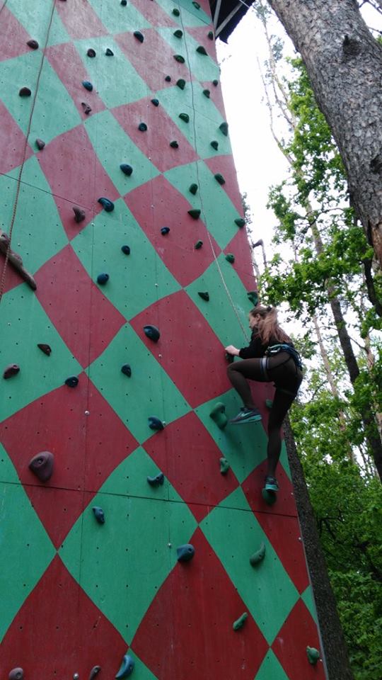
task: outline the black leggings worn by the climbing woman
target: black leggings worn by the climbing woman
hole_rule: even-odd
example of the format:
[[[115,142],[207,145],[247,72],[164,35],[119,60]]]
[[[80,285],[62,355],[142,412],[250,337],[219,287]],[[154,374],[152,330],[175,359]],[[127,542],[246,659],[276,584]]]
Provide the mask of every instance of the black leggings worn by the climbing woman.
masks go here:
[[[282,422],[289,411],[303,378],[301,370],[287,352],[264,359],[243,359],[228,366],[228,378],[248,409],[254,409],[247,379],[273,382],[276,387],[268,421],[267,475],[274,477],[281,451]]]

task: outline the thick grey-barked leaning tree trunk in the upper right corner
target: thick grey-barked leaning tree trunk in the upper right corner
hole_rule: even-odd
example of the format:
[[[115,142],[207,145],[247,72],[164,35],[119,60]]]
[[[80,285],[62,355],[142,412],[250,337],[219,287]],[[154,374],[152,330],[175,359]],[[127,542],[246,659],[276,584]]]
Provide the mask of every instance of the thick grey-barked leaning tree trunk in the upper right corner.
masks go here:
[[[268,0],[306,65],[382,266],[382,47],[355,0]]]

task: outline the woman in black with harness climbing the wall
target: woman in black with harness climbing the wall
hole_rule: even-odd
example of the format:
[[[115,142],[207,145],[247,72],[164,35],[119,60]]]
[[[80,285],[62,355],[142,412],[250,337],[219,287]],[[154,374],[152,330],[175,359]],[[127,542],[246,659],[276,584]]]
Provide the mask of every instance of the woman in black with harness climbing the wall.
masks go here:
[[[274,383],[276,392],[268,421],[267,475],[264,487],[266,492],[273,493],[279,489],[275,472],[281,451],[282,421],[296,399],[303,379],[301,358],[289,336],[277,323],[276,307],[257,305],[250,310],[248,319],[252,330],[249,346],[243,349],[233,345],[226,347],[229,355],[243,359],[228,366],[228,378],[244,404],[229,423],[237,425],[261,420],[247,379]]]

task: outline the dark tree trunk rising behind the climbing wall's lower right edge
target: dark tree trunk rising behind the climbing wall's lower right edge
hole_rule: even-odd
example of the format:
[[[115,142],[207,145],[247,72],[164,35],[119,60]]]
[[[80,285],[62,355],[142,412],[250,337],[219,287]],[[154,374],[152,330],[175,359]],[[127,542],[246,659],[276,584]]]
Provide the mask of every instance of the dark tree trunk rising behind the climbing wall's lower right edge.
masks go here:
[[[303,545],[316,601],[328,680],[354,680],[349,666],[347,647],[337,612],[335,596],[330,586],[328,569],[318,537],[317,523],[306,488],[303,469],[297,455],[296,444],[291,433],[289,418],[284,421],[284,435],[299,512]]]

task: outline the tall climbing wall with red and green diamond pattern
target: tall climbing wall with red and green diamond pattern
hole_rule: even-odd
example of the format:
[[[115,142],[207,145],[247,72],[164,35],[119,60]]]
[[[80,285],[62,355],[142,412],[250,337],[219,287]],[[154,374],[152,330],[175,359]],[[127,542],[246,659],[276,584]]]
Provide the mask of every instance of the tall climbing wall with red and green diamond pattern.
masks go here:
[[[323,680],[207,0],[1,5],[1,678]]]

